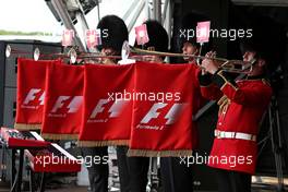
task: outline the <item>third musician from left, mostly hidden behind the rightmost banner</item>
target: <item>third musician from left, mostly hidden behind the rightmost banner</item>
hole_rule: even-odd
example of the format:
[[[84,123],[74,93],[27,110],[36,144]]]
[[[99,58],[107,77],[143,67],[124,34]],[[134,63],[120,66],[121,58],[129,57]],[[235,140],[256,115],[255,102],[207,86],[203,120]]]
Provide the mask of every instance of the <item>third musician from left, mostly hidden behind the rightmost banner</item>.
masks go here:
[[[181,22],[181,31],[192,32],[196,31],[197,22],[207,21],[206,16],[201,13],[191,12],[183,16]],[[180,41],[182,45],[182,53],[195,55],[200,53],[200,44],[196,43],[196,37],[191,34],[181,36]],[[205,45],[207,47],[207,45]],[[205,47],[205,48],[206,48]],[[191,63],[194,70],[194,75],[197,76],[201,72],[200,67],[196,63],[196,59],[193,57],[184,57],[184,62]],[[200,84],[194,82],[194,99],[193,99],[193,115],[197,112],[200,107],[204,104],[204,99],[201,96]],[[192,118],[191,118],[192,119]],[[197,124],[193,122],[193,133],[197,133]],[[193,134],[193,146],[197,145],[199,135]],[[180,157],[163,157],[160,159],[161,182],[165,192],[193,192],[193,167],[185,164],[180,164]]]

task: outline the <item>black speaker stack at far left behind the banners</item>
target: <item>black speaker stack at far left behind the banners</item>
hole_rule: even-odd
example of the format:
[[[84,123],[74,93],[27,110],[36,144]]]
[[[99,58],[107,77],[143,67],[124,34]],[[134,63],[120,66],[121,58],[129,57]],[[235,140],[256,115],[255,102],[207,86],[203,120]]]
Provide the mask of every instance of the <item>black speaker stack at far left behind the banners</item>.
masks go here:
[[[12,53],[5,57],[5,48],[26,53]],[[16,76],[17,58],[33,58],[34,49],[38,48],[41,53],[62,52],[62,46],[53,43],[38,40],[2,40],[0,41],[0,125],[14,127],[16,116]],[[48,58],[47,58],[48,59]],[[25,177],[24,172],[24,177]],[[11,177],[11,152],[0,148],[0,179],[9,181]]]

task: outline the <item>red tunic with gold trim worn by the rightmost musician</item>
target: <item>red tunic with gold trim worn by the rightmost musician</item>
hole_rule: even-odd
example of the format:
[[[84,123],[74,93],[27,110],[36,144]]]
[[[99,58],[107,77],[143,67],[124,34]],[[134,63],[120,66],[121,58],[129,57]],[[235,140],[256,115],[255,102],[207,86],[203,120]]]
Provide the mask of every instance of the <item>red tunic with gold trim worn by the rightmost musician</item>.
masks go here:
[[[264,79],[233,82],[221,71],[212,77],[214,83],[202,86],[202,95],[218,101],[219,113],[216,130],[256,135],[259,123],[266,110],[272,88]],[[256,141],[215,137],[208,166],[243,171],[253,175],[257,156]]]

